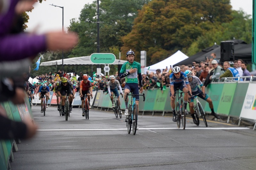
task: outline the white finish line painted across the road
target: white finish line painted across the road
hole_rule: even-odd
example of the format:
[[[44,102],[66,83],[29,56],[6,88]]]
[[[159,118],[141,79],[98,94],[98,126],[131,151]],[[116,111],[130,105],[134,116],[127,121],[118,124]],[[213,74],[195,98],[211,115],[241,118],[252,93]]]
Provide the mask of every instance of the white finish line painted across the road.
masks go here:
[[[158,130],[158,129],[178,129],[178,128],[140,128],[140,130]],[[181,128],[182,129],[182,128]],[[186,129],[211,129],[211,130],[243,130],[250,128],[186,128]],[[85,130],[127,130],[127,128],[121,129],[38,129],[38,131],[85,131]]]

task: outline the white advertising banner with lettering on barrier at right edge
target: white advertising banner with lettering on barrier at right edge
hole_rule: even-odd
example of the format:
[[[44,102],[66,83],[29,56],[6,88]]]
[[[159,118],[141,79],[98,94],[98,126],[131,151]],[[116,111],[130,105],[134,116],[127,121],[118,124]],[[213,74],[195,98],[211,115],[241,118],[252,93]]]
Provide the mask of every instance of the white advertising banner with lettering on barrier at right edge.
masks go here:
[[[256,82],[250,82],[245,98],[240,118],[256,120]]]

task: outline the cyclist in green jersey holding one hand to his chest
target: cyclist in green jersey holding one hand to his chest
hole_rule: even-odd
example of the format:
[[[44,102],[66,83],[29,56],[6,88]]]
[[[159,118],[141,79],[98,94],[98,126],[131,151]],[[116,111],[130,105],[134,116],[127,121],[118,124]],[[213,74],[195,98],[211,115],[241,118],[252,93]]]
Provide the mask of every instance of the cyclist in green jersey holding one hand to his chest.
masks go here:
[[[140,93],[143,92],[143,82],[142,82],[142,76],[141,76],[141,70],[140,70],[140,63],[134,61],[135,53],[130,50],[126,53],[126,59],[128,60],[122,65],[122,68],[120,70],[119,77],[124,78],[125,77],[125,86],[124,86],[124,99],[126,99],[126,96],[131,92],[132,94],[139,94],[139,86],[140,85]],[[139,77],[139,81],[138,81]],[[139,114],[139,96],[136,96],[136,106],[137,111]],[[128,116],[128,98],[125,101],[125,111],[124,115]],[[137,127],[138,129],[138,127]]]

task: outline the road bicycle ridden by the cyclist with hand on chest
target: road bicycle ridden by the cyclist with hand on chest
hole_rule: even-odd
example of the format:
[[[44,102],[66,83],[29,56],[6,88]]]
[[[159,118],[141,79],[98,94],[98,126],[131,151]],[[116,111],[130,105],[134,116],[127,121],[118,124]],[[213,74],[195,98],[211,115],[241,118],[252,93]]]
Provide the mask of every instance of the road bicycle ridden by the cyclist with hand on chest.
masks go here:
[[[132,93],[132,91],[131,91]],[[128,106],[128,113],[129,115],[126,116],[125,122],[127,126],[127,132],[128,134],[131,133],[131,128],[132,128],[132,133],[133,135],[136,134],[136,128],[137,128],[137,123],[138,123],[138,112],[137,112],[137,106],[136,106],[136,98],[135,96],[143,96],[143,101],[145,101],[145,94],[127,94],[127,96],[131,96],[131,104]],[[127,96],[125,98],[125,101],[127,100]]]

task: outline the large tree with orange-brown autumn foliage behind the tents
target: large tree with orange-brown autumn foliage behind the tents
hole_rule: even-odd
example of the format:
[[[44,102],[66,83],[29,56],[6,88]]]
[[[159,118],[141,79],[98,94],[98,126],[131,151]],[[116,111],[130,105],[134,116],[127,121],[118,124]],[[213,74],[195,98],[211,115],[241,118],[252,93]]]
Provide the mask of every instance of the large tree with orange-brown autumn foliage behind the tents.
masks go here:
[[[134,20],[132,31],[122,38],[122,54],[132,48],[136,55],[146,50],[148,56],[165,59],[163,50],[173,54],[187,51],[200,36],[232,19],[229,0],[153,0],[145,4]],[[156,39],[156,48],[154,46]],[[166,52],[164,52],[166,53]],[[154,60],[147,60],[153,64]]]

